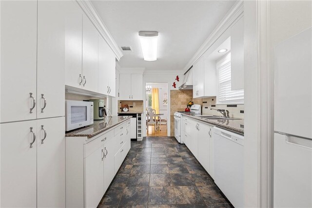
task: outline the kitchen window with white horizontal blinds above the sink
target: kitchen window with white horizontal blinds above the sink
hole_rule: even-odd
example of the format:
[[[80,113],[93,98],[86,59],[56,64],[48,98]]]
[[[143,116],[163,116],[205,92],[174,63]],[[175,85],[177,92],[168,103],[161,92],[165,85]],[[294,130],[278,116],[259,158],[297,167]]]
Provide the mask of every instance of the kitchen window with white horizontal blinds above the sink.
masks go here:
[[[231,53],[225,55],[217,64],[219,104],[244,104],[244,90],[231,90]]]

